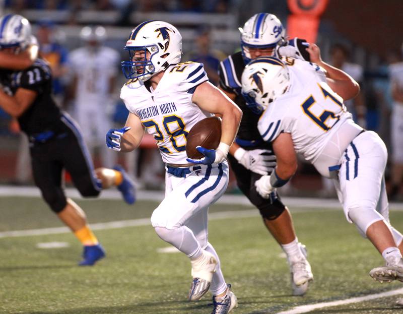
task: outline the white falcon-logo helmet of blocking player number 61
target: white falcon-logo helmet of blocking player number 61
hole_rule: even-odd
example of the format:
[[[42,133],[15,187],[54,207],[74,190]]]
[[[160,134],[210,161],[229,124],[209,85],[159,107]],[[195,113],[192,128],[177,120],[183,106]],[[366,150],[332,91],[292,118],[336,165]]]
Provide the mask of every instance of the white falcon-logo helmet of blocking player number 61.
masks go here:
[[[274,56],[252,60],[242,73],[242,95],[255,113],[261,113],[270,102],[286,93],[289,88],[288,68],[282,60]]]

